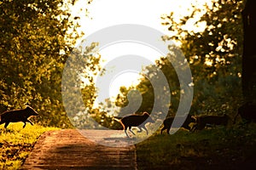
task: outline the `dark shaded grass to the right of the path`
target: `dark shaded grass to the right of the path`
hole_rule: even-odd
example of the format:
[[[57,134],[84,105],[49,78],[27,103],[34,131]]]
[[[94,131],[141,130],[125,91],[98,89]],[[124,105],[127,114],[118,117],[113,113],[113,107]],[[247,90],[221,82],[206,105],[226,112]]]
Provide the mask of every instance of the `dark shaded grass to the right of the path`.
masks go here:
[[[137,146],[138,169],[247,169],[256,161],[256,124],[172,135],[155,133]],[[255,167],[255,166],[254,166]]]

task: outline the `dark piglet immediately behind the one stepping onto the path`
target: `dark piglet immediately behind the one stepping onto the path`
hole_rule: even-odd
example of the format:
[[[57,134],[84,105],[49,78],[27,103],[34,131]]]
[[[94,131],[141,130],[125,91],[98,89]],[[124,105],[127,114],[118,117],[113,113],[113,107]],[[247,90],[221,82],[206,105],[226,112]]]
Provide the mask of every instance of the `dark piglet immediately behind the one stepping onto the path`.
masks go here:
[[[185,121],[183,122],[183,125],[181,127],[186,128],[190,131],[189,124],[191,122],[195,122],[195,119],[191,115],[188,115],[187,117],[177,116],[178,122],[182,122],[184,119],[185,119]],[[163,122],[164,127],[162,127],[160,133],[163,133],[163,131],[166,130],[166,132],[169,134],[173,120],[174,120],[174,116],[166,118],[166,120]]]

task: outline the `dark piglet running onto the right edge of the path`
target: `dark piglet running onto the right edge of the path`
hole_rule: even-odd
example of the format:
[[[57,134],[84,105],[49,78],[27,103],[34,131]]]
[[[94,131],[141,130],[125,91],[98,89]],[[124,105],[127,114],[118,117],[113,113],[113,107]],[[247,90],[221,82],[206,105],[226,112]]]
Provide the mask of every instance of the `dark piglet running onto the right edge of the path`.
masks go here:
[[[138,133],[141,133],[143,129],[145,129],[145,131],[148,134],[148,129],[145,127],[146,123],[148,122],[154,123],[154,120],[149,116],[148,112],[143,112],[142,116],[139,116],[139,115],[125,116],[120,120],[120,123],[124,127],[125,134],[128,138],[129,138],[129,135],[126,132],[127,128],[129,128],[129,131],[133,135],[135,135],[135,133],[132,132],[131,127],[138,127],[140,129]]]

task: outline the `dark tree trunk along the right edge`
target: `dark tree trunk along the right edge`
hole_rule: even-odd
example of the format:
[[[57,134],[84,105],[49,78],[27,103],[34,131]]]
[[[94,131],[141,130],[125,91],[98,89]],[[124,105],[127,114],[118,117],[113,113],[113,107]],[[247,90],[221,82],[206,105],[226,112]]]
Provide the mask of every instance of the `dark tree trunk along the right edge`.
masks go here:
[[[256,99],[256,1],[247,0],[242,11],[244,42],[242,54],[242,91],[247,101]]]

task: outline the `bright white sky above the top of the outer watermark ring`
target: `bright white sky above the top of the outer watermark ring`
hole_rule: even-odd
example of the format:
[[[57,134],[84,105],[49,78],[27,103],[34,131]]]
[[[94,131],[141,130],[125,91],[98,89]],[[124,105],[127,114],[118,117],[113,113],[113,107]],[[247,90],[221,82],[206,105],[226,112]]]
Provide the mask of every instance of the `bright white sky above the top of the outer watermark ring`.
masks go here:
[[[191,3],[202,8],[206,2],[210,4],[212,0],[94,0],[90,5],[86,5],[86,0],[77,0],[72,10],[81,17],[81,29],[86,35],[118,24],[140,24],[168,33],[167,28],[161,26],[161,14],[173,11],[174,17],[180,18],[192,12]],[[84,15],[85,7],[89,17]]]

